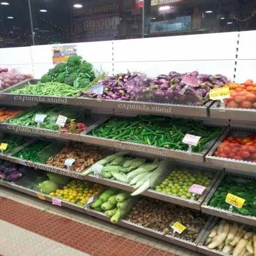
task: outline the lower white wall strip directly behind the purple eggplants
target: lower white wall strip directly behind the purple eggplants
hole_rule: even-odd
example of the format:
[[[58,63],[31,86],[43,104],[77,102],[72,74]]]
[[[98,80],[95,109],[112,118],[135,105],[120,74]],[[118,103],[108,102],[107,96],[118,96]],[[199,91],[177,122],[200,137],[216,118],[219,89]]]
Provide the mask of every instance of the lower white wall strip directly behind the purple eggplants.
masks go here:
[[[170,71],[185,73],[197,70],[205,74],[223,74],[233,78],[234,60],[194,60],[194,61],[169,61],[169,62],[115,62],[114,74],[129,71],[140,71],[149,76],[168,74]]]

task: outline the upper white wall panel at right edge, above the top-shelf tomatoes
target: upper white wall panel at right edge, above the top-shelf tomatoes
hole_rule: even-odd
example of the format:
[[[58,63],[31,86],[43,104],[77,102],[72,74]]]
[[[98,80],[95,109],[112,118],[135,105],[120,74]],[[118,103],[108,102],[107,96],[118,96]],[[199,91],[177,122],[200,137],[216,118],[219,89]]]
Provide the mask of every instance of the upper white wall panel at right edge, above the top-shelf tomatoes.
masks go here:
[[[256,59],[256,31],[240,32],[238,59]]]

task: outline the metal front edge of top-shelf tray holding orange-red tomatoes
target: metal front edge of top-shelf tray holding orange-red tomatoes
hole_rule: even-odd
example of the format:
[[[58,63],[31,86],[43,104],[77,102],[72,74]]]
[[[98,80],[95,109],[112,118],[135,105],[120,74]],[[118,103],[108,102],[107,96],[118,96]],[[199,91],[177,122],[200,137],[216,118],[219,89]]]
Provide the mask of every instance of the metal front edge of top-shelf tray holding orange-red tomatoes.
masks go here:
[[[233,119],[238,121],[256,121],[256,109],[251,108],[220,108],[218,102],[210,107],[210,117],[219,119]]]

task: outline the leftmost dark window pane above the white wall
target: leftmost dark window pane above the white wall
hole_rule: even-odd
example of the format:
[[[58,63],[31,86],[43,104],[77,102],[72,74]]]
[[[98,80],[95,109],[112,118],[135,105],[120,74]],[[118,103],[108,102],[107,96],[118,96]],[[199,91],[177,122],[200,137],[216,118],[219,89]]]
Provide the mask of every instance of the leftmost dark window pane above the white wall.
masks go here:
[[[0,0],[0,48],[31,44],[28,1]]]

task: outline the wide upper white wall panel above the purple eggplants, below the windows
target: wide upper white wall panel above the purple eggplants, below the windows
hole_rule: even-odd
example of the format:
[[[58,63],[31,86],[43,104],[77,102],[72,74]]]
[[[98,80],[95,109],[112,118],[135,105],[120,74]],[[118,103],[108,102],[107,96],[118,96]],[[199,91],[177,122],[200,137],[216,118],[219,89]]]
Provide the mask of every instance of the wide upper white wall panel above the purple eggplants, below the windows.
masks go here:
[[[115,62],[235,59],[237,32],[113,41]]]

